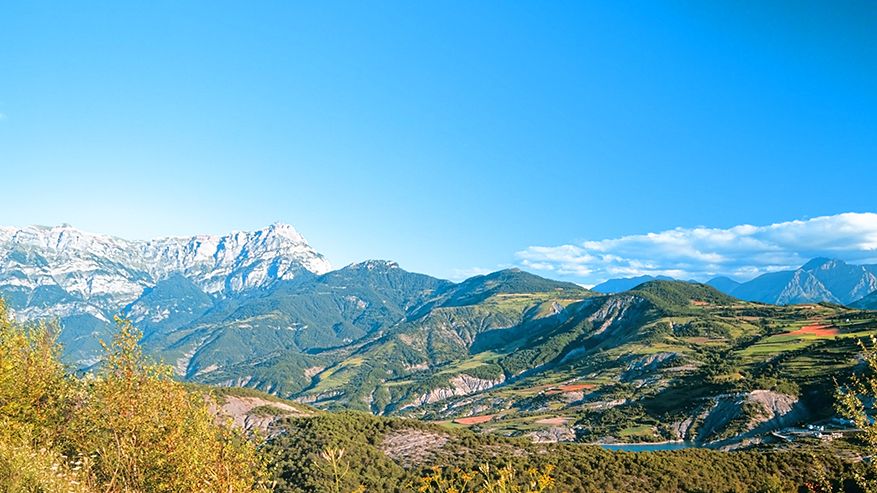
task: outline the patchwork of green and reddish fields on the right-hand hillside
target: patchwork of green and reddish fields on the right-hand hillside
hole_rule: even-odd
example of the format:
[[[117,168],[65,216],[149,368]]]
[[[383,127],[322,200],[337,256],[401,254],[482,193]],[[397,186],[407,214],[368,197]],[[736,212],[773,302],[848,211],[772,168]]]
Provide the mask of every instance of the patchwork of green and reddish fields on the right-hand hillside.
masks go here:
[[[658,340],[630,337],[459,407],[445,402],[444,416],[457,416],[455,426],[506,436],[566,427],[586,440],[658,441],[683,438],[668,426],[684,421],[704,399],[763,389],[796,394],[818,420],[832,408],[834,380],[843,381],[855,367],[859,341],[877,336],[877,313],[835,305],[692,303],[686,312],[653,319],[650,326],[682,328]],[[697,323],[706,327],[705,320],[714,322],[710,330],[727,329],[730,337],[680,333]],[[469,414],[479,401],[503,410]]]

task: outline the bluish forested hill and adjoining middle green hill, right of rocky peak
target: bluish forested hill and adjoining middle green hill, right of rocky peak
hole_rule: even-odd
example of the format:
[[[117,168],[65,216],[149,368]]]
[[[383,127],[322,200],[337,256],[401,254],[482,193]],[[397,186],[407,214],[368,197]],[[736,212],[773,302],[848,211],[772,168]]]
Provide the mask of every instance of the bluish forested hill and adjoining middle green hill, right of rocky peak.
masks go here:
[[[193,381],[382,413],[447,385],[470,354],[554,323],[566,305],[593,295],[518,270],[453,284],[368,262],[225,301],[147,342]],[[475,367],[490,364],[465,366],[482,375]]]

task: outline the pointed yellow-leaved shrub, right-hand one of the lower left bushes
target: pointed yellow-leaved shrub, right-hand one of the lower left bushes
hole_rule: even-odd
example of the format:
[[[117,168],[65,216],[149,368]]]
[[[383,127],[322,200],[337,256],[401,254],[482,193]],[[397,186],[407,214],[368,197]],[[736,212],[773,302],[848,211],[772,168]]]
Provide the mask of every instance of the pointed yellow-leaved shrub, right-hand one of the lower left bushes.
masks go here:
[[[149,362],[141,333],[117,319],[101,374],[72,423],[76,448],[91,454],[95,486],[110,491],[245,491],[264,475],[256,445],[219,425],[204,396]],[[254,481],[255,479],[255,481]]]

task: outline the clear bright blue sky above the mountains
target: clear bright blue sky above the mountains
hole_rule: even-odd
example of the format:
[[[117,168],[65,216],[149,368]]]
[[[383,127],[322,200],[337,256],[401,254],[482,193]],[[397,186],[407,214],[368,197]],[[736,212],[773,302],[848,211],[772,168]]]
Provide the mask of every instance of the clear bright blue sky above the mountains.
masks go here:
[[[840,216],[875,212],[871,2],[15,3],[2,225],[281,221],[338,267],[585,284],[782,263],[612,249],[649,233],[827,221],[857,249],[769,249],[874,257],[873,216]]]

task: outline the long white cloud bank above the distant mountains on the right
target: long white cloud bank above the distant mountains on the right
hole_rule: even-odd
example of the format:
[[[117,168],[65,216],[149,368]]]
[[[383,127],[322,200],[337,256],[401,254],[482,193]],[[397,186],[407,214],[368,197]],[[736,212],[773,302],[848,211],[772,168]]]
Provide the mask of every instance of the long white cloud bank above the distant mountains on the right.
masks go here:
[[[579,245],[533,246],[515,256],[522,267],[585,283],[644,274],[748,280],[765,272],[795,269],[814,257],[877,262],[877,214],[847,213],[730,229],[676,228]]]

